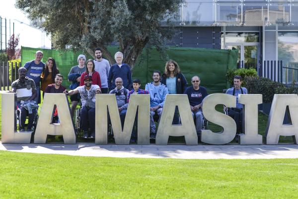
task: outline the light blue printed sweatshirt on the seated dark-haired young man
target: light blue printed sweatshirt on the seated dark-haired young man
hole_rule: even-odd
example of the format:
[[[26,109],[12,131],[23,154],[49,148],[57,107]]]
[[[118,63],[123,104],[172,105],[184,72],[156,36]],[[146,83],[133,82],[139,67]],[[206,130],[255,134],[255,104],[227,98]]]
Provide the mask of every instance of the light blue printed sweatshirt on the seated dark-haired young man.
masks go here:
[[[145,90],[150,94],[150,107],[157,105],[163,107],[165,97],[167,94],[169,94],[165,85],[160,83],[158,86],[154,86],[153,82],[151,82],[146,84]]]

